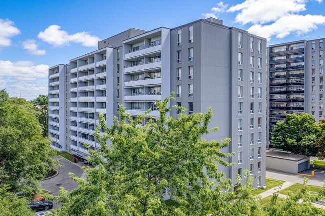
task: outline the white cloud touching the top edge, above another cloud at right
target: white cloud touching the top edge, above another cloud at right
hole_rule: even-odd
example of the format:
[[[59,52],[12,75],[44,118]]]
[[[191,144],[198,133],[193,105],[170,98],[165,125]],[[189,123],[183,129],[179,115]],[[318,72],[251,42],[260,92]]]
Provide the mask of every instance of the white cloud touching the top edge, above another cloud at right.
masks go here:
[[[305,10],[306,0],[245,0],[231,6],[227,12],[239,11],[235,22],[264,24],[289,13]]]

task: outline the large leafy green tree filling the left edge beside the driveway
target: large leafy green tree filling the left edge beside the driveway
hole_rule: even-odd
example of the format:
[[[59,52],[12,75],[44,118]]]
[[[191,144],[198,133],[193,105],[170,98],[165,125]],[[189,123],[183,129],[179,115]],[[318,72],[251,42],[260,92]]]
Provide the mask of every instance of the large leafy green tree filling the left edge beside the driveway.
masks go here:
[[[29,101],[9,98],[0,91],[0,187],[32,196],[40,191],[40,180],[60,165],[56,151],[41,127]]]

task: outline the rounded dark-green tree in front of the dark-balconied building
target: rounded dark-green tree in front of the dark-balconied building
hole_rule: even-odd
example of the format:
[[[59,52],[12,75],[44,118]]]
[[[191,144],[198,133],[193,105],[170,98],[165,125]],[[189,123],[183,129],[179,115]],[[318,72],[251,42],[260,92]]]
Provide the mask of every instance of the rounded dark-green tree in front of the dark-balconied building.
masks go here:
[[[315,156],[315,143],[319,136],[319,127],[315,118],[307,113],[286,114],[284,122],[277,122],[273,134],[272,145],[294,154]]]

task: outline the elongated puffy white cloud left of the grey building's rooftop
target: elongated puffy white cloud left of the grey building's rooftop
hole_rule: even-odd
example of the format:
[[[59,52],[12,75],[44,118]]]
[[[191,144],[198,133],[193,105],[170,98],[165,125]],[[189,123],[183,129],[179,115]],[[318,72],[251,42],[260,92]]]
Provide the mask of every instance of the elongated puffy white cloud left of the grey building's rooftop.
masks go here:
[[[81,43],[83,46],[97,46],[100,40],[97,36],[90,35],[89,32],[68,34],[60,28],[59,25],[50,25],[44,31],[40,31],[37,37],[53,46],[68,46],[70,42]]]

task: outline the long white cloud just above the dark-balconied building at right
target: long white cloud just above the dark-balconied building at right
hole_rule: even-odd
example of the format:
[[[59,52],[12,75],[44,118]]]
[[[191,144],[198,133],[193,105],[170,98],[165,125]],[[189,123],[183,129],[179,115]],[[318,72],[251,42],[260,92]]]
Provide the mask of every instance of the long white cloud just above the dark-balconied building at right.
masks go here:
[[[269,25],[252,25],[248,28],[248,32],[268,39],[273,35],[277,38],[283,38],[291,33],[300,35],[310,32],[316,29],[319,24],[325,24],[325,16],[288,14]]]

